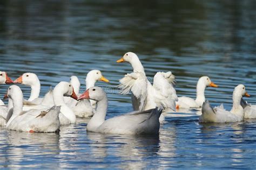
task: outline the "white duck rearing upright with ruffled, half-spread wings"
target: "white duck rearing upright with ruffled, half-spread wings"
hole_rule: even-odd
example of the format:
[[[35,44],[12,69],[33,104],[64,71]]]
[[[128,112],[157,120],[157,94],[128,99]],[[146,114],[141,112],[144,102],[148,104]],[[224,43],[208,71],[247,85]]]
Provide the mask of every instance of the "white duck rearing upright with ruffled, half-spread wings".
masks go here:
[[[117,62],[129,62],[133,68],[133,73],[126,74],[121,79],[119,87],[121,94],[127,94],[132,91],[132,105],[134,110],[147,110],[156,107],[163,107],[168,111],[175,111],[175,101],[178,100],[174,75],[171,72],[158,72],[154,76],[153,86],[147,80],[144,67],[136,54],[132,52],[125,53]],[[145,100],[146,98],[146,100]],[[161,115],[160,120],[164,117]]]

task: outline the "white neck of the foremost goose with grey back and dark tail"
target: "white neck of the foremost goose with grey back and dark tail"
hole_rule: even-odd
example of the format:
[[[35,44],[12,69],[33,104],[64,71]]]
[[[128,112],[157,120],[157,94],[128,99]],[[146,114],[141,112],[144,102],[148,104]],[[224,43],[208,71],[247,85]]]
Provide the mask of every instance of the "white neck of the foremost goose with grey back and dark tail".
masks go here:
[[[97,102],[97,109],[90,122],[89,126],[93,126],[93,128],[98,128],[104,121],[106,117],[107,111],[107,97],[105,96],[103,100]]]

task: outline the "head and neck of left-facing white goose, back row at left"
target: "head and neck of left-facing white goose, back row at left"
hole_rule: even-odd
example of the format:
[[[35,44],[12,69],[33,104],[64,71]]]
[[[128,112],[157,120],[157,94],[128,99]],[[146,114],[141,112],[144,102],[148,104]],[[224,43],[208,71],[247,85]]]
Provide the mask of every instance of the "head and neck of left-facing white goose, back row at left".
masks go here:
[[[35,73],[24,73],[14,81],[31,87],[31,93],[28,101],[34,104],[40,104],[43,98],[39,98],[41,84]]]

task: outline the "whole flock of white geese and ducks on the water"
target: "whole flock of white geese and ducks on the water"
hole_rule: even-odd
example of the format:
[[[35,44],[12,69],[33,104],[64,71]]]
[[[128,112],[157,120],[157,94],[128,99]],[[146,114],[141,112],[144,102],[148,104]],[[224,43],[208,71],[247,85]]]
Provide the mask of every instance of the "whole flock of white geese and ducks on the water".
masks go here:
[[[119,80],[120,94],[131,92],[133,112],[105,120],[107,96],[97,81],[109,82],[100,70],[91,70],[85,79],[86,91],[79,94],[80,82],[71,76],[70,82],[59,82],[40,98],[41,83],[36,74],[24,73],[12,81],[6,72],[0,72],[0,84],[21,83],[30,86],[28,100],[24,100],[21,88],[12,85],[0,100],[0,125],[6,129],[25,132],[56,132],[61,125],[76,123],[76,117],[90,117],[87,131],[116,134],[157,134],[160,123],[164,121],[163,112],[175,112],[179,108],[201,108],[199,122],[239,122],[244,118],[256,118],[256,105],[242,99],[249,97],[245,86],[239,84],[233,92],[231,111],[220,107],[212,108],[205,101],[205,88],[218,87],[210,77],[200,77],[197,83],[196,100],[178,97],[175,90],[176,80],[172,72],[157,72],[153,83],[147,79],[144,67],[138,56],[125,53],[117,62],[129,62],[133,72]]]

